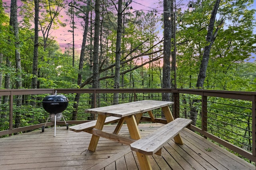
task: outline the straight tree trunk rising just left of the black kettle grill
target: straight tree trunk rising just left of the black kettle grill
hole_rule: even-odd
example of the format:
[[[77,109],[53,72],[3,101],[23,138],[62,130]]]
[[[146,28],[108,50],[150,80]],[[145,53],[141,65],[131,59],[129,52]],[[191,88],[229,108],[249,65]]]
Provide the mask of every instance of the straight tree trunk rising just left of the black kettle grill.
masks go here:
[[[38,77],[38,23],[39,23],[39,0],[34,0],[35,4],[35,39],[34,39],[34,56],[33,56],[33,65],[32,65],[32,83],[31,88],[37,88],[37,77]]]

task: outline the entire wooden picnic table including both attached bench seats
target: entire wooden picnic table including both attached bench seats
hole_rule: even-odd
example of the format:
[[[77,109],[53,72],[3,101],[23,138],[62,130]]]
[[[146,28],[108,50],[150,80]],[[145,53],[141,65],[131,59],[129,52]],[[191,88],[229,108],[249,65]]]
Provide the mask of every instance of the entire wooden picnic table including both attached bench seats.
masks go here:
[[[89,132],[92,134],[88,150],[95,151],[100,137],[108,138],[116,142],[130,145],[131,150],[136,152],[140,168],[142,170],[152,170],[148,155],[161,155],[161,148],[174,138],[174,142],[183,144],[179,132],[191,123],[190,119],[172,117],[169,106],[174,102],[144,100],[106,107],[87,109],[86,113],[98,114],[97,121],[83,123],[70,127],[75,132]],[[162,109],[165,120],[156,119],[152,113],[154,109]],[[143,118],[143,113],[148,112],[149,118]],[[139,122],[144,119],[152,122],[161,122],[166,125],[159,128],[148,136],[141,138],[138,129]],[[104,132],[103,126],[108,123],[117,122],[113,133]],[[118,135],[122,125],[126,122],[130,138]]]

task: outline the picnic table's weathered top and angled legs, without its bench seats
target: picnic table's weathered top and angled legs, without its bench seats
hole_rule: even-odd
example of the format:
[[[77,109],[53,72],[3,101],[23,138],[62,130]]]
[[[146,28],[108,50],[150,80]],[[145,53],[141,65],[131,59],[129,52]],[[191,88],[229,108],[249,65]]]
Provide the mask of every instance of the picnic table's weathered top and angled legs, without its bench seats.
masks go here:
[[[87,132],[92,133],[92,138],[88,150],[95,151],[99,138],[105,137],[112,139],[121,143],[130,144],[141,138],[140,131],[138,129],[138,124],[142,117],[142,114],[148,112],[152,122],[154,122],[154,115],[152,110],[162,108],[164,116],[167,123],[174,120],[172,117],[169,106],[174,104],[174,102],[169,101],[154,101],[154,100],[144,100],[144,101],[135,101],[131,103],[123,103],[119,105],[111,105],[106,107],[98,107],[94,109],[87,109],[86,113],[98,114],[98,119],[96,125],[93,129],[86,130]],[[105,120],[107,117],[119,117],[120,120],[113,134],[107,134],[102,132]],[[126,122],[131,139],[125,138],[123,136],[117,135],[123,123]],[[180,135],[178,134],[174,137],[176,143],[182,144]],[[151,165],[148,159],[148,156],[140,152],[136,152],[138,161],[142,169],[150,170]]]

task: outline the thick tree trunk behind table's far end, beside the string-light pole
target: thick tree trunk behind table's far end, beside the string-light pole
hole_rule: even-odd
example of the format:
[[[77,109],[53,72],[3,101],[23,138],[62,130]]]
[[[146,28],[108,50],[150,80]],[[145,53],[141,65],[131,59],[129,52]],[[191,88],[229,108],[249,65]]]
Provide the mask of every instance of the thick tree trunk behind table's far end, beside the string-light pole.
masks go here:
[[[170,17],[170,12],[173,9],[173,0],[164,0],[164,59],[163,59],[163,86],[162,88],[170,88],[171,87],[171,35],[172,35],[172,24],[168,19]],[[162,94],[163,101],[170,101],[170,93]]]

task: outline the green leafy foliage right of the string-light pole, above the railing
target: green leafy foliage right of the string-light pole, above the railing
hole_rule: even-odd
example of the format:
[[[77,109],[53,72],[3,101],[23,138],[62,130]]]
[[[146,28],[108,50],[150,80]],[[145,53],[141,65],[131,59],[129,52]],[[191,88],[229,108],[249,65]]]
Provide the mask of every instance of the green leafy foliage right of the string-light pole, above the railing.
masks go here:
[[[244,62],[252,53],[256,53],[252,47],[256,42],[255,33],[252,32],[255,28],[255,10],[248,10],[250,4],[251,0],[223,1],[220,5],[215,23],[215,29],[219,30],[210,53],[205,89],[255,91],[251,87],[255,79],[252,75],[256,70],[250,63]],[[177,82],[181,88],[194,88],[196,85],[203,49],[207,45],[205,37],[213,3],[204,1],[193,5],[195,10],[184,13],[184,24],[178,26],[176,35]],[[245,67],[250,68],[247,72],[250,75],[241,75]]]

